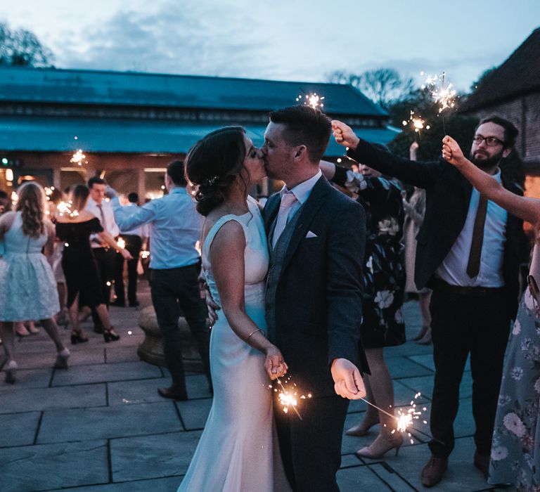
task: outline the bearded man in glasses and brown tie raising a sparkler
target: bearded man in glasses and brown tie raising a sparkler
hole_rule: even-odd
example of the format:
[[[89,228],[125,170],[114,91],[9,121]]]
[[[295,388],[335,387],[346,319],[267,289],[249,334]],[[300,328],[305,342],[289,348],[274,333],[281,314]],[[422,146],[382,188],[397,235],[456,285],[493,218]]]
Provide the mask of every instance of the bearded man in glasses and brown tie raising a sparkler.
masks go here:
[[[526,241],[522,221],[486,200],[442,157],[436,162],[406,160],[361,140],[342,122],[334,121],[333,131],[336,141],[349,148],[349,157],[426,190],[424,222],[416,237],[415,283],[419,290],[426,286],[433,290],[435,385],[432,456],[422,470],[422,484],[439,483],[448,467],[459,386],[469,354],[476,426],[473,462],[487,477],[504,351],[510,319],[518,309],[520,256]],[[499,169],[517,136],[518,129],[506,119],[482,120],[470,160],[522,195],[520,186]]]

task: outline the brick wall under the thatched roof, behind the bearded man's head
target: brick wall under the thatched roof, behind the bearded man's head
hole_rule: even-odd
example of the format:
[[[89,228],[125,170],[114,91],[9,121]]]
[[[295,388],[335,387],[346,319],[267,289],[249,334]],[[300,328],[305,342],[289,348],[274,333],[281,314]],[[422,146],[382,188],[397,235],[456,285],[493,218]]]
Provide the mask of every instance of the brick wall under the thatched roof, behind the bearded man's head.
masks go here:
[[[491,105],[471,114],[480,119],[498,115],[513,122],[520,131],[515,148],[527,167],[540,174],[540,92]]]

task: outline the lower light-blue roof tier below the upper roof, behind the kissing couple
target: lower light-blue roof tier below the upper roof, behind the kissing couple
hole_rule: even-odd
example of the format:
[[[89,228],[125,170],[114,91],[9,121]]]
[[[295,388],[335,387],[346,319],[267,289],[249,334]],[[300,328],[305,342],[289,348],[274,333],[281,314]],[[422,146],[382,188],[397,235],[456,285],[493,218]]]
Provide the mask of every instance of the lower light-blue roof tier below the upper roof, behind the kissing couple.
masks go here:
[[[60,117],[0,118],[0,150],[4,152],[185,153],[217,123],[141,119],[69,119]],[[255,145],[262,145],[266,124],[246,125]],[[397,135],[391,129],[355,128],[368,141],[387,143]],[[77,136],[77,140],[75,140]],[[342,155],[330,139],[327,155]]]

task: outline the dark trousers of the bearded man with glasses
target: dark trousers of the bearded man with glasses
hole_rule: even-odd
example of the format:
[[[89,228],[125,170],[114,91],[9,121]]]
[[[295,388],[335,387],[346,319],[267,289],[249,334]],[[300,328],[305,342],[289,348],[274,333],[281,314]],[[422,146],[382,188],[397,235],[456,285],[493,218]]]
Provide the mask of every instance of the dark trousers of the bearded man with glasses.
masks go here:
[[[510,330],[508,302],[503,290],[486,297],[434,290],[431,330],[435,387],[431,407],[430,449],[446,458],[454,449],[454,419],[459,406],[459,384],[470,353],[473,377],[475,444],[482,455],[491,451],[504,351]]]

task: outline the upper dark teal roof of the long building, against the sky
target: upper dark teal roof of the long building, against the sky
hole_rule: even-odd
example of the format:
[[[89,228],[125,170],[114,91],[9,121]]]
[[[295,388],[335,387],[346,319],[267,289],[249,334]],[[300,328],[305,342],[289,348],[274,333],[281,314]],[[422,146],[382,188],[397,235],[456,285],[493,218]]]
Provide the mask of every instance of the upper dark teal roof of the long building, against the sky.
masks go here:
[[[387,116],[360,91],[344,84],[97,70],[0,69],[0,102],[267,111],[294,105],[297,96],[313,92],[325,97],[324,110],[330,115]]]

